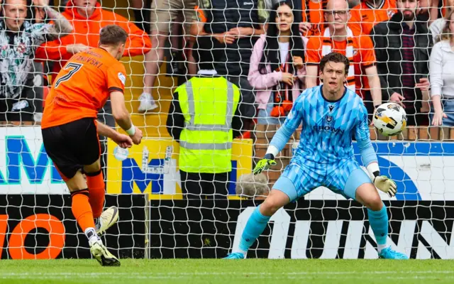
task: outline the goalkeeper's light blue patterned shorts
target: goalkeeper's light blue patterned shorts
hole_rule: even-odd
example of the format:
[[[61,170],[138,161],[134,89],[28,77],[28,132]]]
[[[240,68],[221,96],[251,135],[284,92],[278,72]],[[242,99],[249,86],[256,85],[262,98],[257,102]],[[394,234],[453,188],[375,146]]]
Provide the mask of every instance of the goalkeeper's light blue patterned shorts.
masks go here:
[[[372,183],[367,173],[353,159],[327,165],[323,172],[319,173],[304,163],[291,163],[287,165],[273,189],[284,192],[291,202],[321,186],[328,187],[347,199],[355,200],[356,189],[364,183]]]

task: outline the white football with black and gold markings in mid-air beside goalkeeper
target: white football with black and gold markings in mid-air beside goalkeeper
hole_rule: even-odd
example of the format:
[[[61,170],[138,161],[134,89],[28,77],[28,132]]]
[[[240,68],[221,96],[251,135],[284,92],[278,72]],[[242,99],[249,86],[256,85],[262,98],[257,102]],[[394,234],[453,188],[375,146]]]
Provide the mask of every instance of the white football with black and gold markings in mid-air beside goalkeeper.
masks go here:
[[[406,127],[406,112],[394,102],[380,105],[372,119],[375,128],[384,136],[395,136]]]

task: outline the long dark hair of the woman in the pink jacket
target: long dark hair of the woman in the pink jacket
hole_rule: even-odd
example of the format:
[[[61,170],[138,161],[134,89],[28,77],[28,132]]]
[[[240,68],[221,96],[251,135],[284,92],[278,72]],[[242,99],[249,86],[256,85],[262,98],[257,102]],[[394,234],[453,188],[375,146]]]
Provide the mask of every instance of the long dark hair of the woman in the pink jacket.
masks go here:
[[[276,11],[280,6],[287,5],[292,9],[294,21],[298,18],[298,11],[293,9],[292,0],[279,1],[279,3],[273,6],[273,9],[270,13],[270,19],[267,28],[267,35],[265,46],[263,47],[262,60],[258,70],[261,74],[267,73],[266,66],[270,64],[271,70],[276,70],[279,67],[279,42],[277,41],[277,34],[279,30],[276,25]],[[290,29],[290,42],[289,42],[289,53],[290,58],[294,56],[299,56],[303,58],[304,61],[304,45],[301,35],[299,34],[299,25],[298,23],[292,23],[292,28]]]

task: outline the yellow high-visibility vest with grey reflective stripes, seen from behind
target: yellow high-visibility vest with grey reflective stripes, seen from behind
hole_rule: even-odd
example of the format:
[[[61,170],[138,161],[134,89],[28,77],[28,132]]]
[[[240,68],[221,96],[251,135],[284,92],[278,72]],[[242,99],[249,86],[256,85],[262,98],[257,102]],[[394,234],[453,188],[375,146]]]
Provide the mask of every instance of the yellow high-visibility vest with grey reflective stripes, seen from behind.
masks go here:
[[[176,89],[184,115],[179,169],[187,173],[232,170],[232,119],[240,89],[223,77],[193,77]]]

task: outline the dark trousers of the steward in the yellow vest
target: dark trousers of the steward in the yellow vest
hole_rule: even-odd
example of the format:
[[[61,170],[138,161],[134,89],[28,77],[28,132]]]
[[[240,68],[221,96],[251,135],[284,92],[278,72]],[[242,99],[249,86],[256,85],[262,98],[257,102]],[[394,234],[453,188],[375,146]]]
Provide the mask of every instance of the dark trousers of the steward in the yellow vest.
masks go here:
[[[228,194],[228,173],[187,173],[179,171],[183,196],[187,200],[222,199]]]

